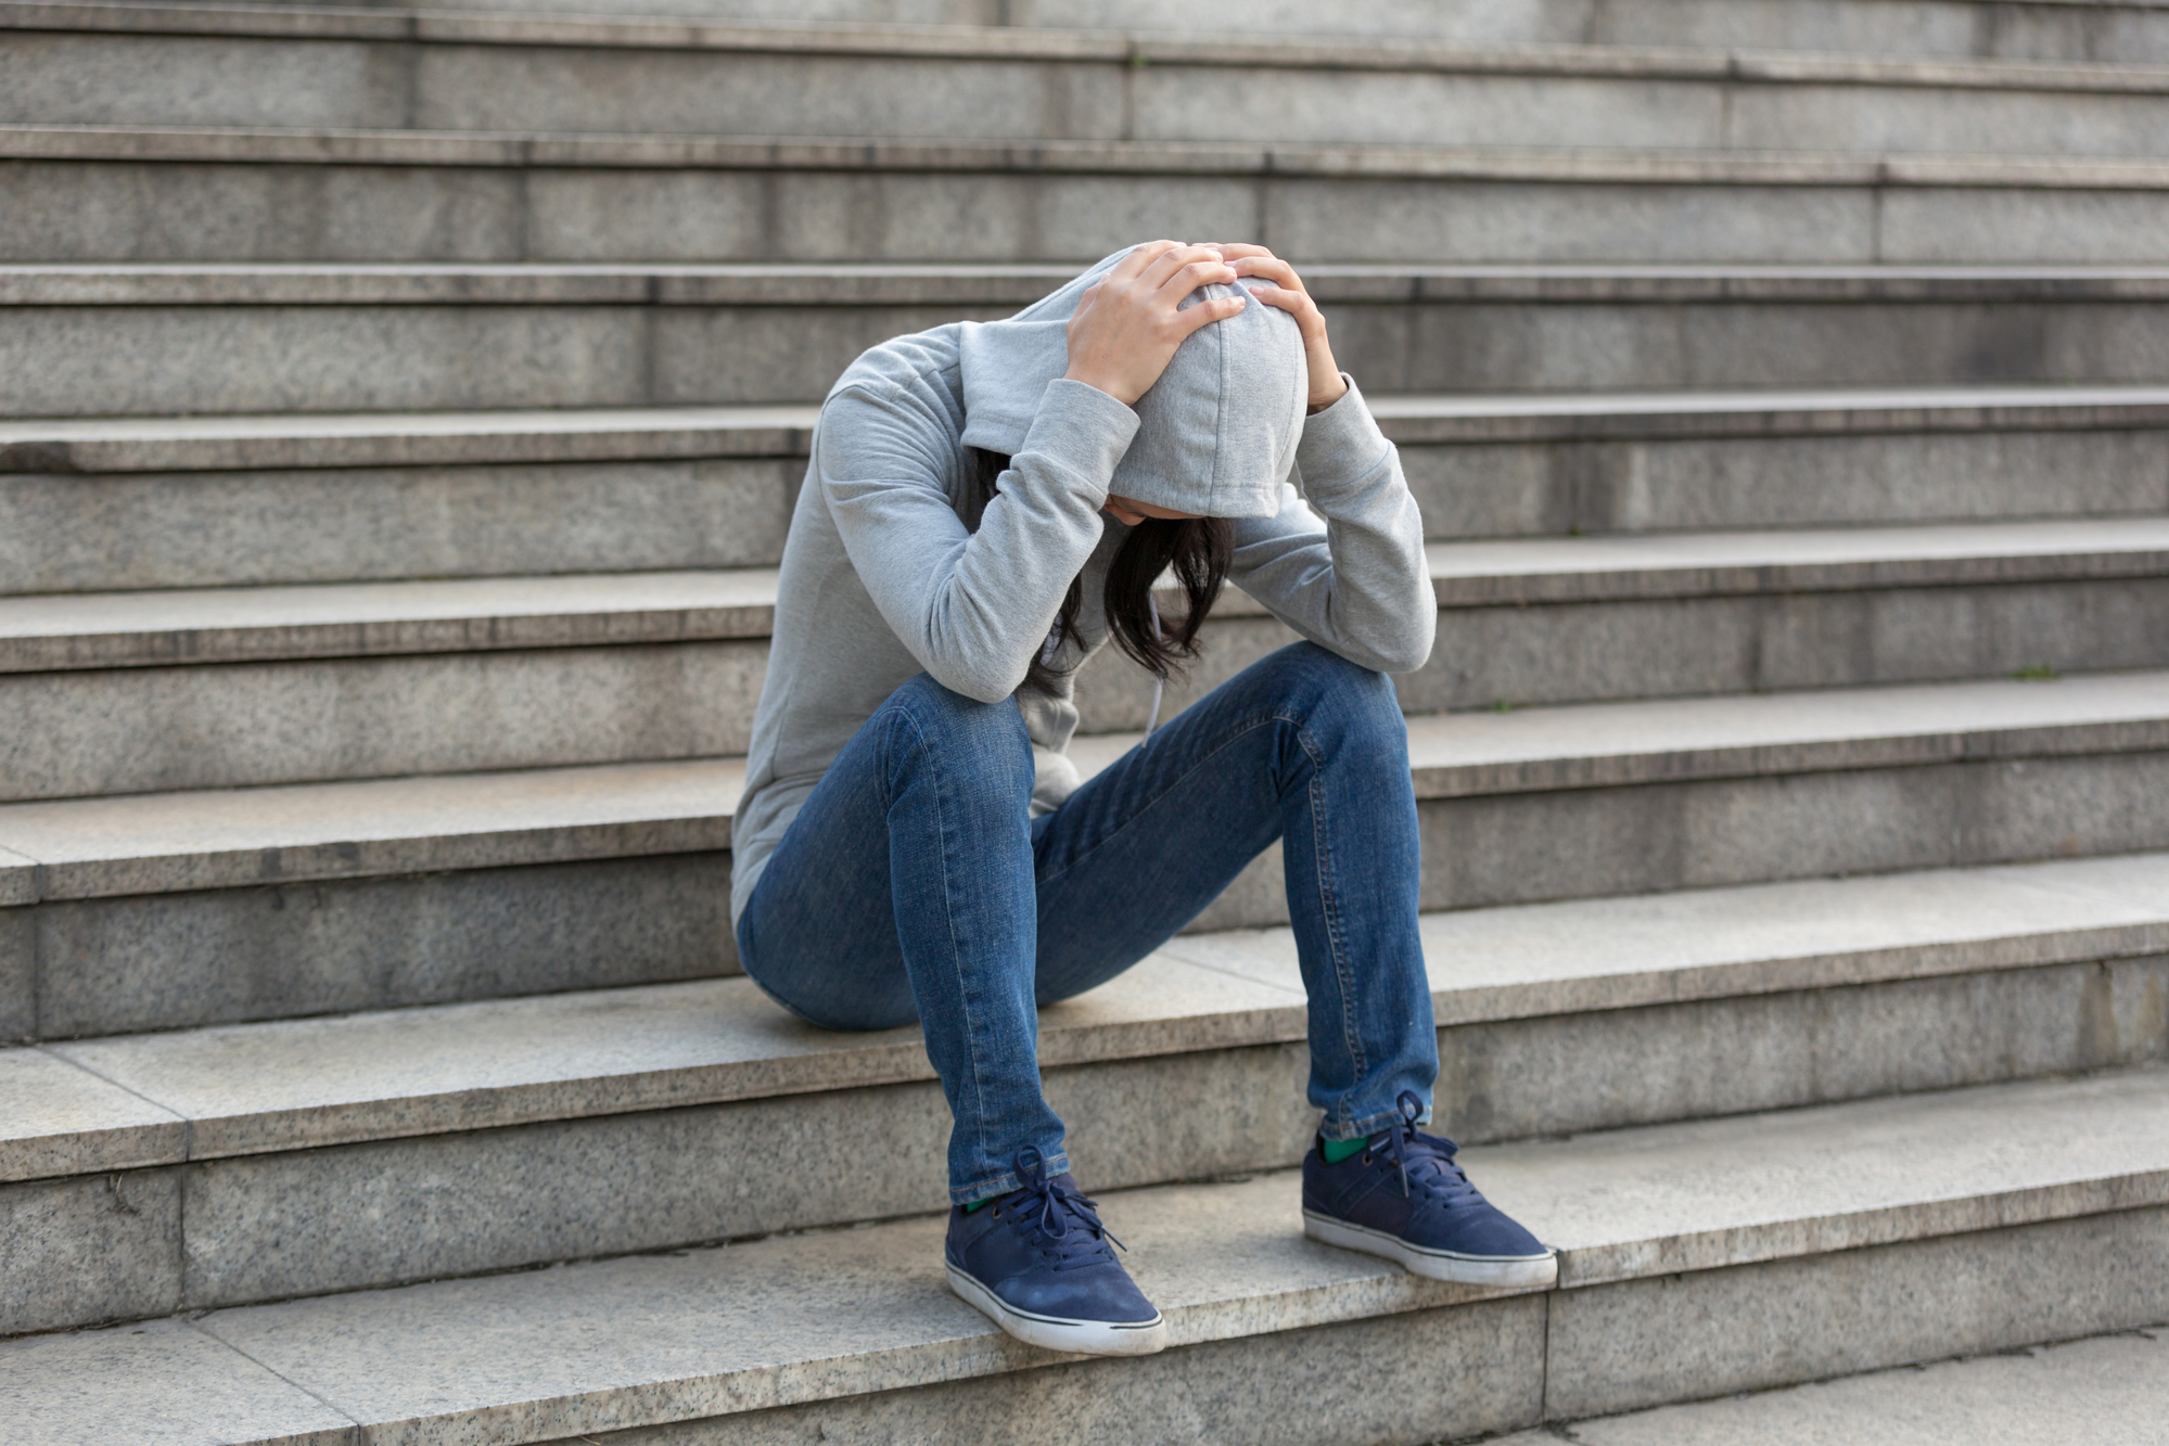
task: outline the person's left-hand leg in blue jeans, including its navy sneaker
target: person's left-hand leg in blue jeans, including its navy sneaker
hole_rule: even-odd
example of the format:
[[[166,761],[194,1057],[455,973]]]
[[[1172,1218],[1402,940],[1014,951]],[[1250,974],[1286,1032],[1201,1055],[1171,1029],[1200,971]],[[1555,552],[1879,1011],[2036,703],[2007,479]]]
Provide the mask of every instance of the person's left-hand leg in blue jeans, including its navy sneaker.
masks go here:
[[[920,1017],[952,1116],[959,1296],[1037,1346],[1150,1355],[1167,1322],[1115,1260],[1039,1093],[1030,798],[1017,705],[920,674],[792,819],[737,921],[740,958],[820,1025]]]

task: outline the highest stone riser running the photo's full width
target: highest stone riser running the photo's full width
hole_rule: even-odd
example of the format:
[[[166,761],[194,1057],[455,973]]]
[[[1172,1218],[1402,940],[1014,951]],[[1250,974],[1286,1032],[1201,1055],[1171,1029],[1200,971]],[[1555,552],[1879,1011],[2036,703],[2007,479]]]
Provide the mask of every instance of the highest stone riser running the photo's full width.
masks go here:
[[[666,41],[670,43],[670,41]],[[0,33],[0,121],[2158,156],[2169,95]]]

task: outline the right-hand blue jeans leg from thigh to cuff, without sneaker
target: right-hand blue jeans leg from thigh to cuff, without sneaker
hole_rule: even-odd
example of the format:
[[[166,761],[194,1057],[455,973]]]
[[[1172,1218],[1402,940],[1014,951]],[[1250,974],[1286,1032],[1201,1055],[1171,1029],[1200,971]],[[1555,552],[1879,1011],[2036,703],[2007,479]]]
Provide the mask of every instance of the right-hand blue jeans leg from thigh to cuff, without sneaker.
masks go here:
[[[1310,1101],[1330,1140],[1429,1106],[1421,854],[1392,681],[1314,644],[1221,683],[1035,826],[1041,1004],[1197,917],[1273,839],[1310,995]]]

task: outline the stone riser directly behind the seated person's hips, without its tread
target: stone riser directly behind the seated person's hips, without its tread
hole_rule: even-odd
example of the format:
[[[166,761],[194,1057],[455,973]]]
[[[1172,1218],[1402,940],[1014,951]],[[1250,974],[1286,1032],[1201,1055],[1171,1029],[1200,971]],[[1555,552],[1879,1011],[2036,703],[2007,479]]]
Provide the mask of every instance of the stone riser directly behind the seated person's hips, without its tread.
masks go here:
[[[2147,752],[1427,800],[1423,906],[2169,848],[2165,800]],[[9,908],[0,1021],[63,1038],[735,973],[724,880],[664,854]],[[1286,919],[1269,848],[1191,928]]]

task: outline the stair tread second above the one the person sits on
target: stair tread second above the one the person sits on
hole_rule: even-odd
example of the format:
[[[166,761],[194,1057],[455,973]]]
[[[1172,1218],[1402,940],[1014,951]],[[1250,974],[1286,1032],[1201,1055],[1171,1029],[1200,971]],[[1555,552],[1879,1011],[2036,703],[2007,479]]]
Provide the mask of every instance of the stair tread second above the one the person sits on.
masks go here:
[[[2169,518],[1434,542],[1440,607],[2152,577]],[[777,568],[0,596],[0,672],[768,637]],[[1230,592],[1219,616],[1262,616]]]

